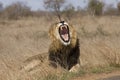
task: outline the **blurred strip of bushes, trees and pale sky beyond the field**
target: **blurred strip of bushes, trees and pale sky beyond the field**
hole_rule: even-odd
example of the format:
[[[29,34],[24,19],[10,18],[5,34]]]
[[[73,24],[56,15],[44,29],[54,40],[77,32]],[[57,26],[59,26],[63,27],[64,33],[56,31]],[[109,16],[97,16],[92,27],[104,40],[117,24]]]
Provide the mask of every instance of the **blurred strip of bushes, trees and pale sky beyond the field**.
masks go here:
[[[54,16],[55,6],[67,18],[120,15],[120,0],[0,0],[0,18]]]

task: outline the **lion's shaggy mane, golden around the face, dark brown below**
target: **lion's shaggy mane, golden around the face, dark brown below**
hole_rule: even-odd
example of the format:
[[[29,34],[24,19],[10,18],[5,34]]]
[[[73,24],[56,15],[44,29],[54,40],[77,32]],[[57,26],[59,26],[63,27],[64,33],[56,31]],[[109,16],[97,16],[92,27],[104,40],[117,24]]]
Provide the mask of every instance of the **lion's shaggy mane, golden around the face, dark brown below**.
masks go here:
[[[57,24],[50,27],[49,36],[52,43],[49,48],[50,64],[54,67],[58,65],[65,69],[70,70],[73,66],[79,63],[79,39],[77,38],[76,31],[72,26],[69,27],[70,41],[63,43],[57,33]]]

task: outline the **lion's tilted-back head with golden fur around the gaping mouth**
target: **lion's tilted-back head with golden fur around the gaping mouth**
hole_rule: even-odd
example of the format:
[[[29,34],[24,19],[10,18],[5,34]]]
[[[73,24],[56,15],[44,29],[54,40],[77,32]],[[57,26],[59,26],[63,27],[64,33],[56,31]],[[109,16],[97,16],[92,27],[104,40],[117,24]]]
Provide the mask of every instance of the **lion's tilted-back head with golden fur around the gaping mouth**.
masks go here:
[[[49,29],[49,36],[52,42],[59,42],[62,45],[72,45],[76,44],[76,31],[74,28],[65,21],[53,24]]]

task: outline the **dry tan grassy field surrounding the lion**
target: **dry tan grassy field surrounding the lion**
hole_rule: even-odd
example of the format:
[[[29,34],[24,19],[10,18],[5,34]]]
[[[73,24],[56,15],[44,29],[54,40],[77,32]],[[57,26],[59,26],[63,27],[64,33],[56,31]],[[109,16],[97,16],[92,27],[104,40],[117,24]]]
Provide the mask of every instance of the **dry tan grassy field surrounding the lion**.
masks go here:
[[[39,55],[48,51],[48,30],[55,21],[0,20],[0,80],[69,80],[86,72],[120,67],[120,17],[85,16],[69,21],[80,39],[80,71],[75,74],[50,68],[46,56]]]

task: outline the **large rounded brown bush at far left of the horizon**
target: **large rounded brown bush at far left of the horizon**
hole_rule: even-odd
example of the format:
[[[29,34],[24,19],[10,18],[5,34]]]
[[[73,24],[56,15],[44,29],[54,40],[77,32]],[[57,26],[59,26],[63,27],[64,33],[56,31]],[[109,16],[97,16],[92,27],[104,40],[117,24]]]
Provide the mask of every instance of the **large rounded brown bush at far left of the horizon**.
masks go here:
[[[3,18],[19,19],[24,16],[30,16],[31,10],[22,2],[16,2],[7,6],[3,11]]]

